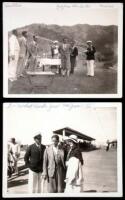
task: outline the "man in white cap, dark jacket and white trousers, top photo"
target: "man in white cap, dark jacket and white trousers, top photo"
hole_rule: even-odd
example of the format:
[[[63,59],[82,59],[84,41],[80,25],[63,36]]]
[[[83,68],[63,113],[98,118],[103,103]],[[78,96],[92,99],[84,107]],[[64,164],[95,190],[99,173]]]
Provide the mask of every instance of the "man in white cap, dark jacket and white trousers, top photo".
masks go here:
[[[96,49],[92,45],[92,41],[88,40],[87,42],[87,50],[84,51],[86,53],[86,60],[87,60],[87,76],[94,76],[94,64],[95,64],[95,52]]]

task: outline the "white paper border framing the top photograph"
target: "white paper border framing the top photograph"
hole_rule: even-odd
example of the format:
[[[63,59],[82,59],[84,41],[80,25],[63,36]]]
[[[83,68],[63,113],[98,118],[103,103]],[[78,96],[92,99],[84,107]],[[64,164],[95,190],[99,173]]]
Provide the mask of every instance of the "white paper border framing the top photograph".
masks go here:
[[[32,2],[33,4],[35,2]],[[118,9],[118,73],[116,94],[8,94],[8,31],[6,27],[6,6],[18,6],[18,2],[3,3],[3,96],[7,98],[121,98],[123,87],[123,3],[81,3],[91,5],[93,8],[117,8]],[[26,2],[20,2],[20,5]],[[30,3],[27,3],[30,4]],[[36,4],[38,4],[36,2]],[[42,4],[42,3],[39,3]],[[44,3],[45,4],[45,3]],[[50,3],[49,3],[50,4]],[[54,3],[52,3],[54,4]],[[59,4],[59,3],[55,3]],[[61,3],[61,4],[65,4]],[[71,4],[71,3],[70,3]]]

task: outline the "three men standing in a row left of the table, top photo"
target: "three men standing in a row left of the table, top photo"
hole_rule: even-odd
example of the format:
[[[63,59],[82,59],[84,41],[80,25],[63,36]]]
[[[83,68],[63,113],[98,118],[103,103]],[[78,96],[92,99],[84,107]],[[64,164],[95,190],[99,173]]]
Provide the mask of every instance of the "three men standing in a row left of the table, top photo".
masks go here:
[[[19,37],[17,30],[12,31],[9,38],[9,68],[8,79],[16,81],[19,77],[25,77],[27,64],[33,69],[37,64],[37,37],[34,35],[28,43],[27,31],[22,31]]]

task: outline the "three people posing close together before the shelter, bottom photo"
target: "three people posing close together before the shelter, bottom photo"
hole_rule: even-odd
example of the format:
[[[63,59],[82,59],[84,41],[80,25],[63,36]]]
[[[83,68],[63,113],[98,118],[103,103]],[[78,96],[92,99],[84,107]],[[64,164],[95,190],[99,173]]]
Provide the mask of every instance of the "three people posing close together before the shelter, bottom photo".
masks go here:
[[[24,160],[29,168],[29,193],[63,193],[67,189],[69,191],[69,188],[72,190],[75,181],[80,178],[78,163],[80,160],[83,165],[83,158],[77,148],[77,137],[70,136],[69,149],[59,143],[58,135],[53,135],[51,139],[52,144],[46,147],[41,144],[42,136],[38,134],[34,137],[35,143],[27,148]],[[70,158],[71,162],[69,162]],[[67,162],[70,163],[69,166]]]

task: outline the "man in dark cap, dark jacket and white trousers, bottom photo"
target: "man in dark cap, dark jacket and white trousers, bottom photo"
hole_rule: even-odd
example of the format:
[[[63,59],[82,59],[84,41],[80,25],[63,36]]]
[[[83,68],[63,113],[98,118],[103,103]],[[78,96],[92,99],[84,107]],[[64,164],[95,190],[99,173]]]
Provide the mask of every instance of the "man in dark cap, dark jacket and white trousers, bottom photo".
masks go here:
[[[30,145],[24,156],[25,164],[29,168],[29,193],[42,192],[43,155],[45,146],[41,144],[42,136],[34,136],[35,143]]]

